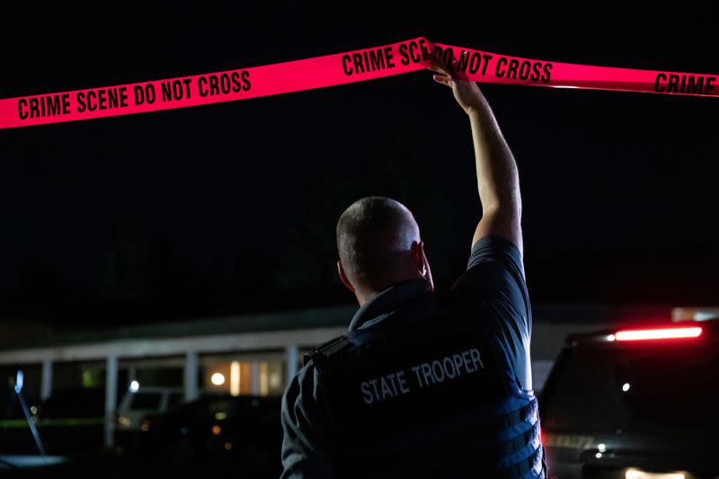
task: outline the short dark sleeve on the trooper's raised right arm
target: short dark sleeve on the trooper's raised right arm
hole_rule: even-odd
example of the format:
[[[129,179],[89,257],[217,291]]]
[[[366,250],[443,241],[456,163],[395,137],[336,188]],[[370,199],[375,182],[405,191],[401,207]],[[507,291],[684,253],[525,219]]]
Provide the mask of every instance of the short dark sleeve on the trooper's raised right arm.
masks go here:
[[[497,339],[500,350],[524,389],[531,389],[529,342],[532,315],[521,253],[501,236],[475,243],[467,271],[453,287],[471,298],[477,321]]]

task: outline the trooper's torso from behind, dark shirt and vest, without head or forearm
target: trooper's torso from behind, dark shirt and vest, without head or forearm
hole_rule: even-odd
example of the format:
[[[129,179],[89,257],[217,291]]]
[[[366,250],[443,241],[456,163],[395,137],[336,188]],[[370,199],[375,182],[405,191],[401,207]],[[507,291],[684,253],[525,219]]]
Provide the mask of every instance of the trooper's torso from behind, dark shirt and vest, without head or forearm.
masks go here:
[[[446,295],[428,286],[387,289],[318,348],[283,404],[283,459],[307,421],[322,459],[302,470],[326,466],[307,476],[542,475],[519,251],[484,238]]]

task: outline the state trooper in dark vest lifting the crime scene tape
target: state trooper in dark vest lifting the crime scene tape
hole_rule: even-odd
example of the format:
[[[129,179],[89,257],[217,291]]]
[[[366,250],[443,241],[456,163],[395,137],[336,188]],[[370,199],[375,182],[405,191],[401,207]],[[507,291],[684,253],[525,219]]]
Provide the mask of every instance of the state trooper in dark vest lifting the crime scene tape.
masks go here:
[[[478,86],[431,70],[472,127],[482,219],[467,270],[438,294],[409,209],[371,197],[342,213],[337,266],[360,307],[285,392],[283,478],[546,475],[517,165]]]

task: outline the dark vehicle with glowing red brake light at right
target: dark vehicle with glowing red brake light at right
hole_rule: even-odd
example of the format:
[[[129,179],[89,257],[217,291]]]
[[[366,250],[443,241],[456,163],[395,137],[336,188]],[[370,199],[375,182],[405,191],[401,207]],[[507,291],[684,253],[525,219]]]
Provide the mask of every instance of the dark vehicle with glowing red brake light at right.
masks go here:
[[[570,335],[540,416],[560,479],[719,478],[719,321]]]

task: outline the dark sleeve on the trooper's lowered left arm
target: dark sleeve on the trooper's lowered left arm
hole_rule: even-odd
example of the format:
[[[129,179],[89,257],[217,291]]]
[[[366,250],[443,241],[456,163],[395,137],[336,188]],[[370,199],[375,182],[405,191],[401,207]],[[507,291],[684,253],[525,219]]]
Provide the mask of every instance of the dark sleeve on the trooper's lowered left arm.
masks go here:
[[[319,375],[309,363],[300,369],[282,396],[281,479],[332,477],[320,396]]]

